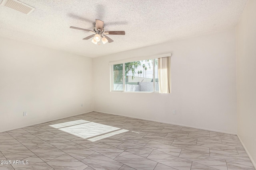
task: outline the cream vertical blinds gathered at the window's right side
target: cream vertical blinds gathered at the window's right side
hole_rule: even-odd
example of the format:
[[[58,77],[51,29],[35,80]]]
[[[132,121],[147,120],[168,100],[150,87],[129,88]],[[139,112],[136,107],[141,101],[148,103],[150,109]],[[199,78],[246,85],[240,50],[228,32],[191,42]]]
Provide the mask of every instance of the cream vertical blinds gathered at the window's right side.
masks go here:
[[[158,58],[158,81],[159,81],[159,93],[170,93],[171,92],[171,81],[170,81],[170,57]]]

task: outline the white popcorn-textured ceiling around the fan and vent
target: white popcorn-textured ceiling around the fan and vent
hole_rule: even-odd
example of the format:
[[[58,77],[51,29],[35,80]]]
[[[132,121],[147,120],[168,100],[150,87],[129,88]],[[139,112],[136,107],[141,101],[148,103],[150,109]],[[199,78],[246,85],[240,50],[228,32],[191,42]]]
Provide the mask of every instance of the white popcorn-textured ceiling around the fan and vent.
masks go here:
[[[0,0],[1,2],[2,0]],[[0,36],[99,57],[235,27],[247,0],[21,0],[30,15],[0,6]],[[105,22],[113,43],[82,40],[95,19]]]

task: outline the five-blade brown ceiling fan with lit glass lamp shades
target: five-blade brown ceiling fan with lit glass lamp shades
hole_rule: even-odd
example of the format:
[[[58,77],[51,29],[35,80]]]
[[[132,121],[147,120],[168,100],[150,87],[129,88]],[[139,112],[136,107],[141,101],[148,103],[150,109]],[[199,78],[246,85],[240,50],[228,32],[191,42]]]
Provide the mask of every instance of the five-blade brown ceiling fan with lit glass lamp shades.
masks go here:
[[[102,41],[103,44],[106,44],[107,42],[112,43],[114,40],[112,40],[106,34],[108,34],[108,35],[125,35],[124,31],[105,31],[104,21],[97,20],[97,19],[95,21],[95,25],[94,25],[93,30],[78,28],[78,27],[72,27],[72,26],[70,28],[80,29],[80,30],[83,30],[83,31],[89,31],[89,32],[94,33],[94,34],[84,38],[84,39],[90,39],[90,38],[94,37],[92,39],[92,43],[94,43],[94,44],[98,44],[100,42],[100,40]]]

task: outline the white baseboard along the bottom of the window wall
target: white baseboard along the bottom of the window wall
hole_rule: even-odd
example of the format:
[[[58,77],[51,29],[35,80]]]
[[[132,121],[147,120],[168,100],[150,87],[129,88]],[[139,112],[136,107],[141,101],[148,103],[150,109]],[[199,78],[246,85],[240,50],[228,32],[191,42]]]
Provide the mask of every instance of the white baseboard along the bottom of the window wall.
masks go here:
[[[120,114],[115,114],[115,113],[108,113],[108,112],[105,112],[105,111],[94,111],[94,112],[106,113],[106,114],[111,114],[111,115],[118,115],[118,116],[124,116],[124,117],[130,117],[130,118],[142,119],[142,120],[148,120],[148,121],[155,121],[155,122],[166,123],[166,124],[170,124],[170,125],[178,125],[178,126],[184,126],[184,127],[191,127],[191,128],[202,129],[202,130],[206,130],[206,131],[226,133],[226,134],[230,134],[230,135],[237,135],[236,133],[232,133],[232,132],[218,131],[218,130],[214,130],[214,129],[207,129],[207,128],[202,128],[202,127],[188,126],[188,125],[182,125],[182,124],[170,123],[170,122],[164,122],[164,121],[156,121],[156,120],[152,120],[152,119],[144,119],[144,118],[141,118],[141,117],[134,117],[134,116],[128,116],[128,115],[120,115]]]

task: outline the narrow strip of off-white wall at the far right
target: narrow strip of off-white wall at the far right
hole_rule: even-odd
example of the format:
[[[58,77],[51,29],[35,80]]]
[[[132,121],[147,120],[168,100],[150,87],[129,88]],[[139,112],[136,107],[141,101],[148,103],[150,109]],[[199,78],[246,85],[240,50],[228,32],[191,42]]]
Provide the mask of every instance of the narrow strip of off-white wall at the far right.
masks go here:
[[[256,0],[236,27],[238,136],[256,167]]]

